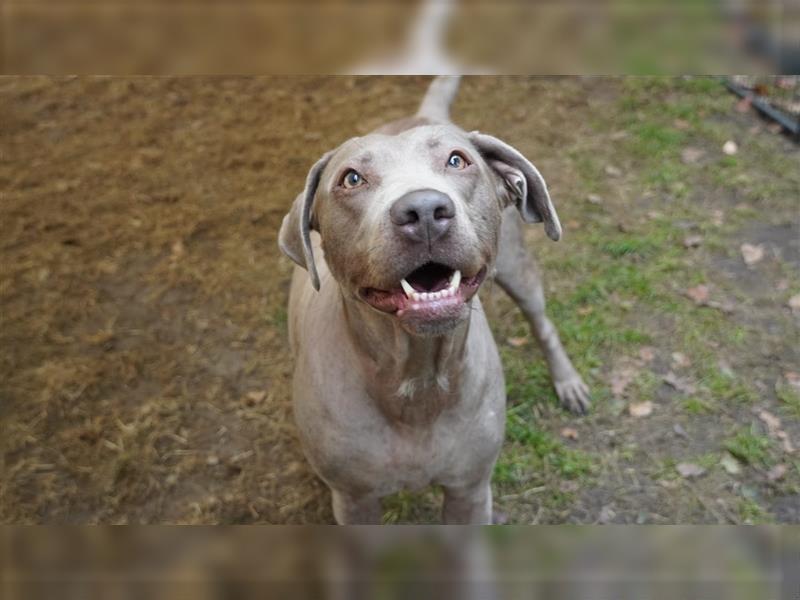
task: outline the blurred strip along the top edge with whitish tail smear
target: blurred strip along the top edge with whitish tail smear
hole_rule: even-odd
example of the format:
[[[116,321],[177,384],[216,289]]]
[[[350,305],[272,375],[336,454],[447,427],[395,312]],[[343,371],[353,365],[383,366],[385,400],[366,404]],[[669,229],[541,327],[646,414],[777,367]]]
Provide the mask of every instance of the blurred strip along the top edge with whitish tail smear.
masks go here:
[[[782,0],[6,0],[5,73],[800,71]]]

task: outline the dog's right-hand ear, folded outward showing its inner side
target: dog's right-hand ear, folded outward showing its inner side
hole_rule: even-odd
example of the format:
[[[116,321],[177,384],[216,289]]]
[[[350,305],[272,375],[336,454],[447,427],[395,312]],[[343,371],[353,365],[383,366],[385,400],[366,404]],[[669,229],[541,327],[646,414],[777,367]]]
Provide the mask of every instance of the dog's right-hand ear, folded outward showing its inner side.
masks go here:
[[[547,184],[539,171],[519,150],[490,135],[473,131],[469,138],[487,164],[505,183],[509,201],[514,201],[526,223],[544,223],[551,240],[561,237],[561,223],[550,201]]]

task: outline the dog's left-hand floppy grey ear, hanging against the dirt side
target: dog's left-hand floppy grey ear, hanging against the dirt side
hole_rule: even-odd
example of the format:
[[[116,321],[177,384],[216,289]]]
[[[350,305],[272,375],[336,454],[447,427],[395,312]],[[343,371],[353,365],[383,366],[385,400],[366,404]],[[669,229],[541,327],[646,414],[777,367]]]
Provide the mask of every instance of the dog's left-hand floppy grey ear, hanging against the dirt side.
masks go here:
[[[319,290],[319,275],[314,263],[314,251],[311,248],[312,208],[317,193],[322,171],[330,161],[333,151],[326,152],[306,177],[305,189],[295,198],[292,208],[283,217],[281,230],[278,233],[278,246],[286,256],[308,271],[311,285]]]

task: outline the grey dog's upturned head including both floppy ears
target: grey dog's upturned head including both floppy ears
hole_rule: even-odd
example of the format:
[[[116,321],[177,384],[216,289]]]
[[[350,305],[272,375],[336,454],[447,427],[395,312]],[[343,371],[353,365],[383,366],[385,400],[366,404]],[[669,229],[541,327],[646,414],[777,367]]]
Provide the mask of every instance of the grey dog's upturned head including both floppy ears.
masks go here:
[[[501,140],[453,125],[353,138],[311,168],[284,217],[281,250],[319,289],[310,232],[346,294],[416,335],[469,315],[497,253],[503,209],[561,236],[536,168]]]

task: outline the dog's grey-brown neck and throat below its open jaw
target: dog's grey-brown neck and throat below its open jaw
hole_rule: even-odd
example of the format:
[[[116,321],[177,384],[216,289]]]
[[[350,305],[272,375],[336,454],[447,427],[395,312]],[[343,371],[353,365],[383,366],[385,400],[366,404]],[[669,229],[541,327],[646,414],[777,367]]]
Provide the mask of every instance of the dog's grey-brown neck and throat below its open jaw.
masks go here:
[[[457,402],[469,318],[442,335],[421,337],[346,292],[342,300],[367,390],[388,419],[407,425],[430,423]]]

